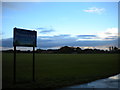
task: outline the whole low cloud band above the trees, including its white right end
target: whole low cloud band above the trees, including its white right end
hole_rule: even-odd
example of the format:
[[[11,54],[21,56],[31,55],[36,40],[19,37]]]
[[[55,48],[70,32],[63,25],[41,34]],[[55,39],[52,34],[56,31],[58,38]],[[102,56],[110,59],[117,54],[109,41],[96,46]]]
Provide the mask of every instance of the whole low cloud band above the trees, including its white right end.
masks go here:
[[[38,36],[37,47],[48,49],[62,46],[79,46],[79,47],[101,47],[101,46],[120,46],[120,39],[117,38],[117,28],[109,28],[104,32],[105,37],[101,33],[96,35],[76,35],[60,34],[53,36]],[[2,46],[4,48],[13,47],[13,38],[2,39]]]

